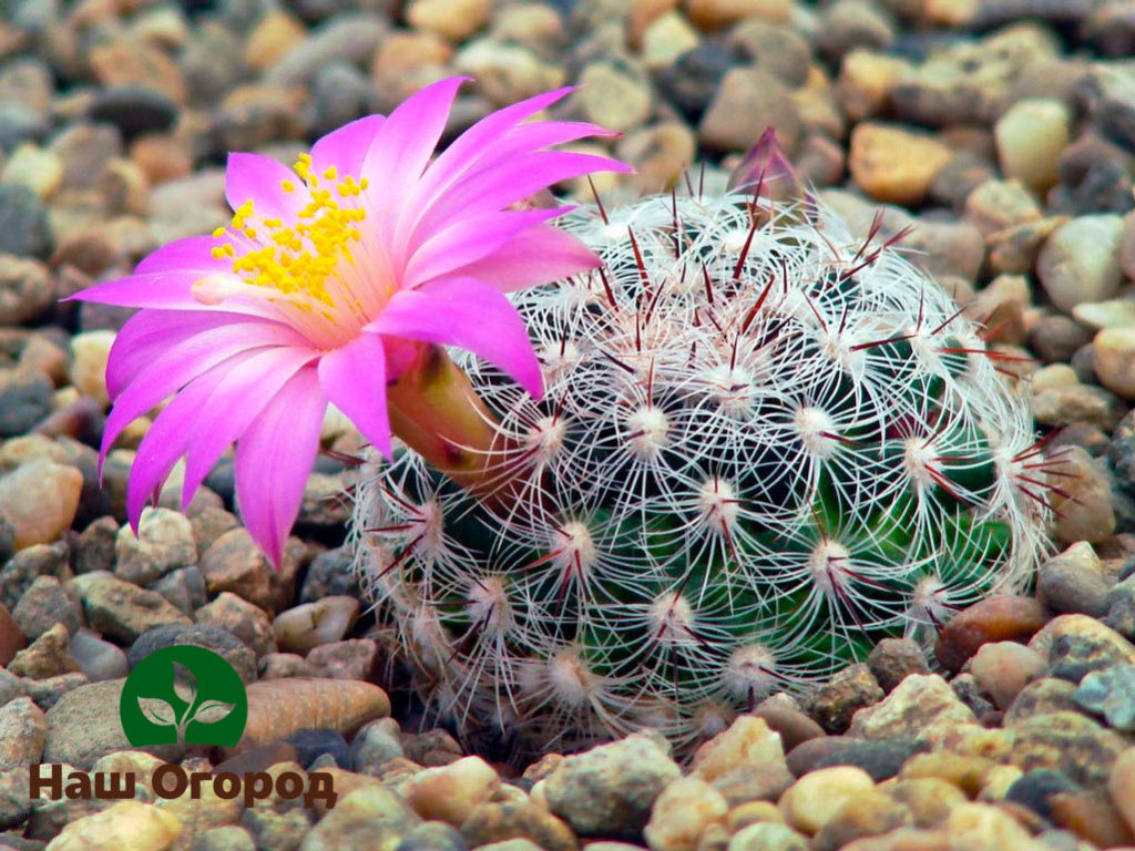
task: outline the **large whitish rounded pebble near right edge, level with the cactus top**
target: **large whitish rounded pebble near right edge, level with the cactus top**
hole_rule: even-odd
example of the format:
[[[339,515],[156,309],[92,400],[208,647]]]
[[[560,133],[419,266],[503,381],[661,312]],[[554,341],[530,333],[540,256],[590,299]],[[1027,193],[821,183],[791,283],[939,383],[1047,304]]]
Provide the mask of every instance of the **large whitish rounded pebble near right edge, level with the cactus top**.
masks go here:
[[[1036,276],[1065,313],[1077,304],[1111,298],[1119,289],[1123,218],[1079,216],[1058,227],[1036,259]]]

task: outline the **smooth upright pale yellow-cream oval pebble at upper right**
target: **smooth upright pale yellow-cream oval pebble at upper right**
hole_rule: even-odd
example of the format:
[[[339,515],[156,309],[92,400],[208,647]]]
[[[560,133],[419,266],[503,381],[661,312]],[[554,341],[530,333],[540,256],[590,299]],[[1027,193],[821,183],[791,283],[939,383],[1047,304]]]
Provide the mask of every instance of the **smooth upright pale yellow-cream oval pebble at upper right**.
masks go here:
[[[1043,193],[1057,182],[1057,160],[1068,146],[1068,108],[1051,98],[1014,103],[993,127],[998,160],[1006,177]]]

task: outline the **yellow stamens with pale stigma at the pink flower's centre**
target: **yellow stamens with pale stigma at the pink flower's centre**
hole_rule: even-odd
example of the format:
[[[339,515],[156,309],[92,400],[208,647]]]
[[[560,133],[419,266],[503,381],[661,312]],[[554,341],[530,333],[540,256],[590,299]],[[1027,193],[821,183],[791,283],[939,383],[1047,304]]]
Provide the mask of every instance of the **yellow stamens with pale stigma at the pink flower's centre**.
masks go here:
[[[306,203],[288,221],[259,216],[252,199],[241,204],[232,226],[213,231],[224,242],[212,254],[232,259],[233,276],[202,278],[193,293],[204,304],[232,295],[267,298],[297,330],[327,344],[328,321],[340,332],[343,325],[355,330],[373,312],[375,305],[368,303],[368,290],[373,288],[361,286],[368,270],[356,263],[363,247],[358,226],[367,218],[358,199],[368,180],[339,177],[334,166],[316,174],[305,153],[294,168],[306,188]],[[299,189],[292,180],[281,180],[280,186],[287,194]]]

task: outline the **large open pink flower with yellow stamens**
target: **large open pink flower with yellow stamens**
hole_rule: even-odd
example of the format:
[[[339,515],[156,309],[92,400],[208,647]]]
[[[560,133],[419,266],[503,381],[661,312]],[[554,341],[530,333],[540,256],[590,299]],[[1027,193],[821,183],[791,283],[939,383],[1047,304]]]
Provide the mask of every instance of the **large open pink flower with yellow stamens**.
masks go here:
[[[323,136],[294,171],[232,154],[230,227],[171,243],[133,276],[76,296],[142,307],[107,364],[114,408],[102,457],[127,423],[173,396],[131,471],[135,530],[180,457],[187,504],[235,441],[244,523],[278,565],[328,402],[389,455],[386,382],[422,342],[466,348],[541,394],[504,294],[598,260],[547,224],[569,208],[508,208],[560,180],[627,167],[547,150],[605,135],[599,127],[523,123],[568,90],[486,117],[431,162],[462,82]]]

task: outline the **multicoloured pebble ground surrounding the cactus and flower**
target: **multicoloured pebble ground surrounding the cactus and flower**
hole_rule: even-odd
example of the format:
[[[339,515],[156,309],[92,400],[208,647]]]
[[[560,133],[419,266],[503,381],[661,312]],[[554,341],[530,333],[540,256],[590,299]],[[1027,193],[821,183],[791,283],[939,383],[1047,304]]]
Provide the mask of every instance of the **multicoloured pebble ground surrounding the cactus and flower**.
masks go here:
[[[402,8],[404,6],[404,8]],[[396,8],[397,7],[397,8]],[[1132,0],[0,0],[0,844],[19,849],[1017,851],[1135,846],[1135,2]],[[222,462],[135,538],[140,421],[95,473],[127,311],[60,304],[225,224],[222,158],[291,160],[428,81],[477,77],[456,132],[585,83],[561,117],[623,132],[604,192],[729,168],[775,125],[865,230],[1034,359],[1037,426],[1079,478],[1033,597],[884,641],[679,764],[638,734],[528,766],[466,756],[389,685],[322,458],[281,573]],[[565,186],[566,192],[582,187]],[[326,445],[358,448],[329,419]],[[249,683],[233,770],[335,775],[338,806],[157,800],[108,707],[150,651],[199,643]],[[286,707],[287,711],[283,711]],[[159,753],[186,770],[225,755]],[[28,766],[133,770],[136,801],[31,800]]]

